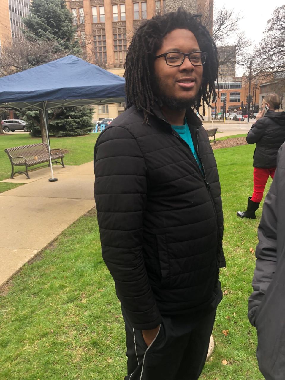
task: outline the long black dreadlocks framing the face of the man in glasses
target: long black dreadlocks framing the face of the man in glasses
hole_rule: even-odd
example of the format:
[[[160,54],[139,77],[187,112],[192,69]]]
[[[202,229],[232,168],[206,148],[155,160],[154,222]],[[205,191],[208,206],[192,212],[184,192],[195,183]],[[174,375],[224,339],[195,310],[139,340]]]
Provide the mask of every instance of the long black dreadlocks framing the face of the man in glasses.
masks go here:
[[[136,31],[128,48],[124,65],[126,108],[135,105],[138,111],[144,113],[144,123],[148,123],[155,103],[159,106],[162,105],[161,100],[155,96],[152,89],[155,53],[162,46],[163,38],[175,29],[190,30],[195,35],[201,51],[207,52],[206,62],[203,65],[201,88],[197,94],[194,108],[199,112],[202,103],[203,116],[205,116],[205,103],[211,107],[209,101],[212,93],[213,101],[215,101],[216,80],[218,85],[217,47],[207,28],[201,22],[201,14],[191,14],[183,8],[178,8],[176,12],[154,16],[144,22]],[[219,88],[219,86],[217,87]]]

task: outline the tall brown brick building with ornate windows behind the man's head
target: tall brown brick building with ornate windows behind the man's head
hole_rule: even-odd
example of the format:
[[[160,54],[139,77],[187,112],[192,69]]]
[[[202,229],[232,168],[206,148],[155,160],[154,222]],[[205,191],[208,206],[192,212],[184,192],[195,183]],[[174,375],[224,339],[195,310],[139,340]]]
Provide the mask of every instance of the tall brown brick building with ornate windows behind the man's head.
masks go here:
[[[165,11],[184,6],[197,12],[212,4],[213,0],[67,0],[67,8],[78,25],[78,38],[85,41],[86,55],[119,76],[134,30],[146,19]],[[123,112],[124,104],[95,107],[94,119],[116,117]]]

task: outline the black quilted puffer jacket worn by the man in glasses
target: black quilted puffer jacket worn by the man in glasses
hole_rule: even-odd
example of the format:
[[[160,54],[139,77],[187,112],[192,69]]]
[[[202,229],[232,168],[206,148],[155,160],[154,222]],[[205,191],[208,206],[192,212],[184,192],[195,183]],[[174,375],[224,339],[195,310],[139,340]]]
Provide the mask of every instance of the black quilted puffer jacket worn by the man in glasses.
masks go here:
[[[131,107],[95,145],[102,255],[137,329],[156,327],[161,314],[215,307],[222,298],[218,171],[201,120],[192,110],[186,117],[206,178],[160,110],[146,125]]]

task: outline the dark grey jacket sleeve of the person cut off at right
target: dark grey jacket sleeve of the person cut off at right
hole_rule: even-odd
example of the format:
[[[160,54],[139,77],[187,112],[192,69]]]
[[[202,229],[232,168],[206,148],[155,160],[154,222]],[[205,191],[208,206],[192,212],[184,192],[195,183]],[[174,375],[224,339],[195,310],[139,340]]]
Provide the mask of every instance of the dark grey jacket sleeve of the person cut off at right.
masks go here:
[[[255,314],[269,287],[276,269],[277,260],[277,168],[274,180],[264,200],[263,212],[258,227],[255,271],[252,280],[253,293],[249,298],[249,321],[255,326]]]

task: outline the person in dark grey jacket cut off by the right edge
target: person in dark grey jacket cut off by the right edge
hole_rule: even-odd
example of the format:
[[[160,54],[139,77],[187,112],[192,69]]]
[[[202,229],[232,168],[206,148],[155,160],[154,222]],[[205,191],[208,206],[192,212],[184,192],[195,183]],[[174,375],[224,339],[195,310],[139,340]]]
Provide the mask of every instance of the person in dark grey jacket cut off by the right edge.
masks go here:
[[[249,320],[256,327],[256,356],[266,380],[285,378],[285,143],[258,227]]]

